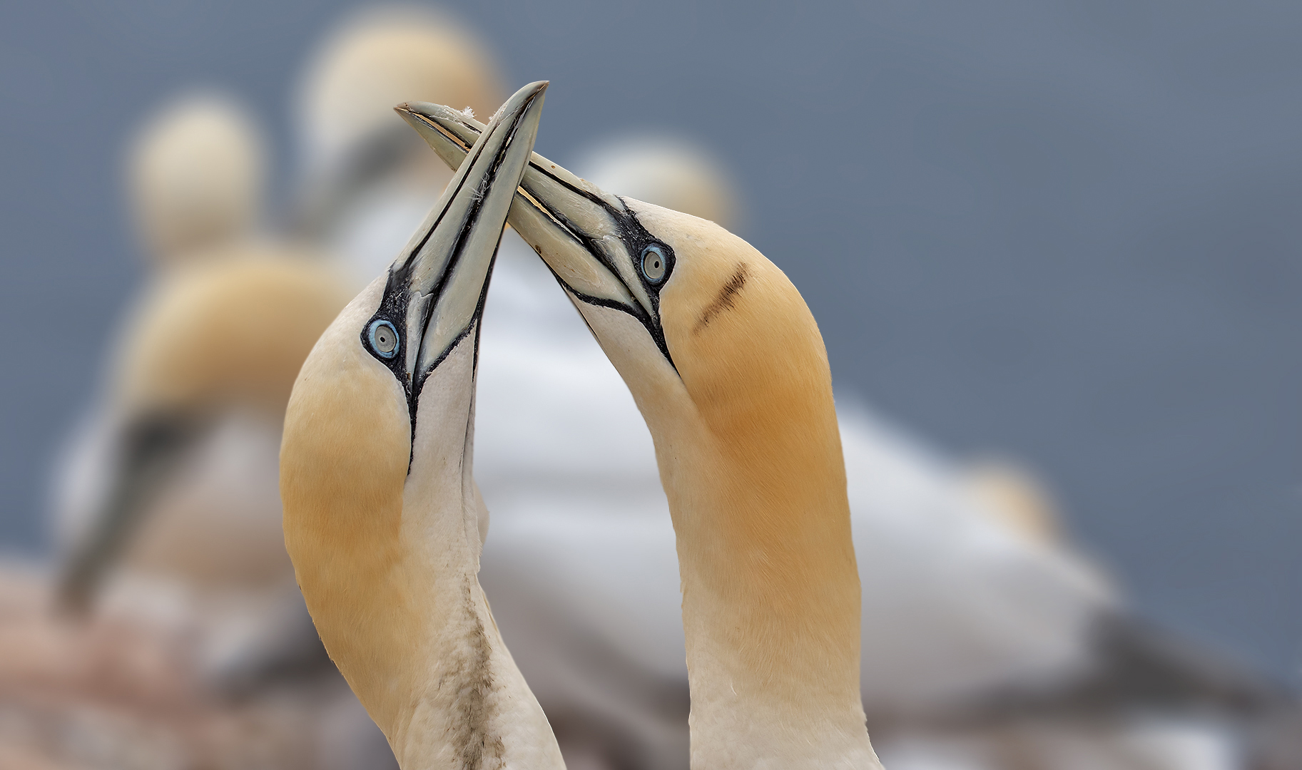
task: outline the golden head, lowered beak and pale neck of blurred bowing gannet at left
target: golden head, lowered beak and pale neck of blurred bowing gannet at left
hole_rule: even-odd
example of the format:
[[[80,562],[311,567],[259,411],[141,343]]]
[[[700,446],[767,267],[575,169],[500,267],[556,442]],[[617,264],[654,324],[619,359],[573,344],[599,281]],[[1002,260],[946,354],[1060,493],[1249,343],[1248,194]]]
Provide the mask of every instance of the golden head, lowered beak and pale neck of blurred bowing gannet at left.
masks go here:
[[[345,300],[335,272],[307,256],[242,254],[154,282],[115,360],[109,483],[68,546],[65,601],[85,605],[117,561],[191,600],[292,587],[280,423]]]

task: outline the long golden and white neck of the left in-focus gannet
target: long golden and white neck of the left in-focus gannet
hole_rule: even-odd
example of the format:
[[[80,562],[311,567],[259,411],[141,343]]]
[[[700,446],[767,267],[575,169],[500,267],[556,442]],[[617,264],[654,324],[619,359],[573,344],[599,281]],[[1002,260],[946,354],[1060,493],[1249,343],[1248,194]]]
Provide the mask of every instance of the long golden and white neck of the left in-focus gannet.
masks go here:
[[[454,373],[461,363],[449,356],[445,367]],[[447,395],[426,401],[470,414],[447,403],[467,389],[437,377],[426,388]],[[281,462],[285,542],[326,649],[405,770],[564,767],[477,578],[483,503],[469,467],[473,419],[440,420],[422,402],[418,424],[428,428],[417,431],[408,473],[406,447],[371,438],[401,429],[405,414],[362,414],[328,434],[335,425],[319,415],[333,410],[320,402],[346,398],[344,388],[322,389],[302,415],[290,405]],[[350,414],[366,411],[361,399],[348,403]]]

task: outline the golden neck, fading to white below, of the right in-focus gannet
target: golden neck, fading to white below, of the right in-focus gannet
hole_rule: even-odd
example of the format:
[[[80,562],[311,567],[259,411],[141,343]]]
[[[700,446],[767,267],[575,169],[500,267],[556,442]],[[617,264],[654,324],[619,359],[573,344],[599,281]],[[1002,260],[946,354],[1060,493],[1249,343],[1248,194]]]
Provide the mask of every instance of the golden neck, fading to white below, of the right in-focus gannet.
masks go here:
[[[691,766],[880,767],[831,386],[656,437],[682,574]],[[654,431],[655,433],[655,431]]]

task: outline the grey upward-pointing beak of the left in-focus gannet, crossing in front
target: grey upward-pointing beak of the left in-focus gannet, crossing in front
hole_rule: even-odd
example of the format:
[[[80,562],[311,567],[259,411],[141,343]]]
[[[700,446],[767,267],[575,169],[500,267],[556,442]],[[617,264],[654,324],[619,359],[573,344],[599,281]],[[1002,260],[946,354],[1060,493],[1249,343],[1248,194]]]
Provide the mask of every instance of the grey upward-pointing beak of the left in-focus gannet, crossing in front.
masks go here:
[[[443,198],[389,268],[385,302],[406,295],[406,342],[393,351],[391,368],[405,376],[413,406],[424,378],[483,312],[497,243],[533,152],[546,90],[546,81],[530,83],[503,104],[467,146]]]

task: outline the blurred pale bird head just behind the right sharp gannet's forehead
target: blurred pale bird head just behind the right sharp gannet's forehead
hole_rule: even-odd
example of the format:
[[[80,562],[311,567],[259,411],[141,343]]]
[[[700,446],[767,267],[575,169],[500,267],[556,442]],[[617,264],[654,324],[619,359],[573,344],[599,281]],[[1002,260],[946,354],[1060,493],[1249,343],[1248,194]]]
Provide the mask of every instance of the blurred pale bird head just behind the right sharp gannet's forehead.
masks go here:
[[[574,173],[603,190],[654,203],[732,230],[737,191],[723,165],[686,139],[631,135],[603,142],[572,164]]]

